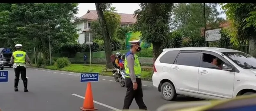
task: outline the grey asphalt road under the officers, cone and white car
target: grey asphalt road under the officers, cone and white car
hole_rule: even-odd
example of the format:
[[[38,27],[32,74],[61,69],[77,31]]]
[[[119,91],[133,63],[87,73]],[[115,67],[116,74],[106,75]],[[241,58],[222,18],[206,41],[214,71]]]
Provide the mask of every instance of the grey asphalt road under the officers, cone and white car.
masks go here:
[[[83,105],[86,83],[80,83],[78,73],[28,67],[28,92],[23,91],[21,78],[19,91],[15,92],[14,70],[8,67],[4,70],[9,71],[9,82],[0,83],[1,111],[79,111]],[[142,85],[144,102],[151,111],[166,103],[201,100],[178,96],[176,101],[166,101],[152,87],[152,82],[143,81]],[[126,88],[113,77],[100,76],[99,82],[92,82],[92,91],[94,107],[99,111],[122,109]],[[135,100],[130,109],[138,109]]]

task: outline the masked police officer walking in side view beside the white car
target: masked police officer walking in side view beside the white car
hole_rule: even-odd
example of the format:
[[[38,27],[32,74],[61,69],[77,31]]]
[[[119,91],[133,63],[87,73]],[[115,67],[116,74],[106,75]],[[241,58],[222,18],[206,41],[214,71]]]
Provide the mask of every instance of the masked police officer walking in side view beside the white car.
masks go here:
[[[141,67],[138,56],[136,52],[140,52],[140,41],[130,41],[131,50],[126,53],[124,59],[124,69],[125,69],[125,84],[127,87],[126,95],[124,98],[123,109],[129,109],[132,104],[133,98],[138,104],[140,109],[147,110],[146,105],[143,102],[143,92],[141,84]]]

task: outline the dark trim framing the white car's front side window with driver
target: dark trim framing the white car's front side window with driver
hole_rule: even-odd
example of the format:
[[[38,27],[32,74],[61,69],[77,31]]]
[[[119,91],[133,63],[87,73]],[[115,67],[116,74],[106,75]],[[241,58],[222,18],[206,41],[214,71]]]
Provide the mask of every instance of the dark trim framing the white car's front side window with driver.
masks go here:
[[[200,60],[200,66],[199,66],[199,67],[203,67],[203,66],[202,66],[202,64],[203,64],[203,54],[210,54],[210,55],[213,55],[213,56],[219,58],[219,59],[222,60],[223,62],[225,62],[225,63],[227,63],[227,64],[230,64],[230,65],[233,67],[233,69],[231,70],[231,72],[236,72],[236,73],[239,73],[239,72],[240,72],[236,67],[234,67],[233,64],[231,64],[227,59],[225,59],[224,57],[222,57],[220,54],[217,54],[217,53],[211,52],[211,51],[202,51],[201,53],[202,53],[202,55],[201,55],[201,60]],[[205,67],[204,67],[204,68],[205,68]]]

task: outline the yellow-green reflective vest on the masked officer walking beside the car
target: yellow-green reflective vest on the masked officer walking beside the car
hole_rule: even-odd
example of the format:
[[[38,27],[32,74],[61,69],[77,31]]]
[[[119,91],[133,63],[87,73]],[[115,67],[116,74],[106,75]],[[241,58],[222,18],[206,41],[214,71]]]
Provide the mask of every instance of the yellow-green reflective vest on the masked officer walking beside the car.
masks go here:
[[[128,51],[126,53],[126,56],[125,56],[125,59],[124,59],[124,69],[125,69],[125,77],[131,77],[130,76],[130,72],[129,72],[129,67],[128,67],[128,63],[127,63],[127,56],[132,54],[131,51]],[[135,74],[135,77],[140,77],[141,76],[141,67],[140,67],[140,61],[138,59],[138,56],[136,54],[133,54],[134,55],[134,65],[133,65],[133,68],[134,68],[134,74]]]

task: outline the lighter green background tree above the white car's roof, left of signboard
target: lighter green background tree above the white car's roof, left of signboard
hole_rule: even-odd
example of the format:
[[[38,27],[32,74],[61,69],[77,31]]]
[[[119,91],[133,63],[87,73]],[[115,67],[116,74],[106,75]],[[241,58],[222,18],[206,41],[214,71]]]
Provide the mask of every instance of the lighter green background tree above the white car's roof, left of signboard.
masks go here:
[[[219,27],[217,3],[177,3],[173,9],[172,30],[180,29],[185,37],[201,37],[201,28]],[[205,17],[205,18],[204,18]]]

